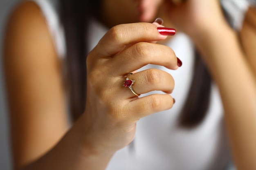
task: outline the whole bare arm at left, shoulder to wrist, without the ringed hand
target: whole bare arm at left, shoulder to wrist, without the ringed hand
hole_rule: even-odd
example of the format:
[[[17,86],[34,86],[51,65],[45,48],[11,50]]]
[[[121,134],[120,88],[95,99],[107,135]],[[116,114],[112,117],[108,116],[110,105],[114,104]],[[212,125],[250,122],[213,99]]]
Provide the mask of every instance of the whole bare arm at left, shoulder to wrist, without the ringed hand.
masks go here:
[[[4,68],[15,169],[106,167],[112,153],[92,153],[85,148],[81,120],[68,130],[61,62],[43,15],[33,2],[22,3],[11,15]]]

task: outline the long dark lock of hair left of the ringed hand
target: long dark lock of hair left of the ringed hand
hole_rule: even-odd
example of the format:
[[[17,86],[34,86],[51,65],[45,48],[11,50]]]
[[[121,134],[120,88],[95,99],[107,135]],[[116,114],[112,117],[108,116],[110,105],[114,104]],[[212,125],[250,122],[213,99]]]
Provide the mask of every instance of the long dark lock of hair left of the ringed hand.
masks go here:
[[[67,93],[73,120],[85,109],[86,32],[88,19],[97,13],[100,0],[59,0],[61,22],[66,38]]]

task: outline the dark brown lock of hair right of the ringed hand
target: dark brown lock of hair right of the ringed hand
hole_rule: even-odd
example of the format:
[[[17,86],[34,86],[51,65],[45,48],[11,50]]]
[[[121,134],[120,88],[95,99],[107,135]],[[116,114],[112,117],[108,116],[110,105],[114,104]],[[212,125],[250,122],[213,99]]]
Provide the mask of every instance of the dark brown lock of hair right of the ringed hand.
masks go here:
[[[209,108],[210,92],[211,76],[200,54],[195,51],[193,80],[179,117],[181,127],[193,128],[202,122]]]

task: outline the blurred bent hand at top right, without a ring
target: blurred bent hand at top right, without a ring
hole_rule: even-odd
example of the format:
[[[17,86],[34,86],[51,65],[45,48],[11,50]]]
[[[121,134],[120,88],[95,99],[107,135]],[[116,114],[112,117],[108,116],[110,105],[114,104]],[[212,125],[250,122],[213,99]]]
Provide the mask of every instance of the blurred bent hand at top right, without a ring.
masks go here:
[[[175,5],[166,0],[164,11],[175,27],[191,37],[220,31],[227,25],[218,0],[186,0]]]

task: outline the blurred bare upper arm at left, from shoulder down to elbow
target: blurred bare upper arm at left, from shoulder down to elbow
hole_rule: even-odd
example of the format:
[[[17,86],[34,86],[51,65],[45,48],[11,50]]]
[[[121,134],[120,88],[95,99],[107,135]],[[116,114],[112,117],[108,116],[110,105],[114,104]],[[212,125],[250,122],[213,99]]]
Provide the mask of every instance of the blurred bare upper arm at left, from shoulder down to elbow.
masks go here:
[[[61,63],[33,2],[15,9],[6,28],[4,73],[15,167],[50,150],[67,131]],[[45,126],[47,125],[47,126]]]

